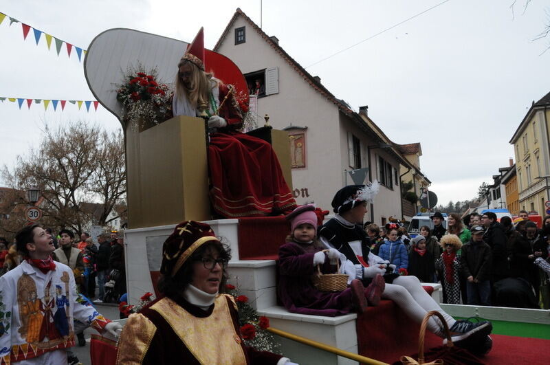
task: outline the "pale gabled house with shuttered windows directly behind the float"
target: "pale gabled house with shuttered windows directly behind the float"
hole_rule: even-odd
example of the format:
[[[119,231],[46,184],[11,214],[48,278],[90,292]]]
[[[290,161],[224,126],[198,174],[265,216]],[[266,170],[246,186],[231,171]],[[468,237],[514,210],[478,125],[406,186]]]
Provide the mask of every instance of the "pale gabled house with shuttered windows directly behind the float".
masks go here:
[[[250,93],[256,95],[255,114],[270,115],[275,129],[288,131],[297,203],[314,201],[330,209],[342,186],[377,179],[380,193],[365,219],[377,224],[401,219],[399,172],[406,159],[373,127],[366,111],[355,113],[278,43],[237,9],[214,51],[243,71]],[[363,176],[361,182],[353,179]]]

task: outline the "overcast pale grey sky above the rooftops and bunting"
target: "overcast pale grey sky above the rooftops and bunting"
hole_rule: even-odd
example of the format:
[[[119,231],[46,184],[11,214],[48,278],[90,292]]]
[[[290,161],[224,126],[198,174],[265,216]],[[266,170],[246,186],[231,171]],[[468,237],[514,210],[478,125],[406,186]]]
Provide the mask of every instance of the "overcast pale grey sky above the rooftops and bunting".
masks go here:
[[[264,0],[263,30],[308,67],[442,1]],[[550,39],[532,41],[550,1],[532,0],[524,13],[518,0],[515,17],[512,2],[450,0],[307,70],[355,111],[369,105],[394,142],[421,142],[421,170],[440,202],[471,199],[508,165],[508,141],[531,101],[550,91],[550,50],[540,55]],[[237,7],[260,23],[259,0],[0,2],[0,12],[84,49],[113,27],[191,41],[201,26],[212,48]],[[21,23],[9,23],[0,24],[0,97],[94,100],[74,49],[57,56],[44,36],[37,46],[31,30],[23,41]],[[120,128],[102,107],[59,110],[0,103],[0,166],[36,145],[45,123]]]

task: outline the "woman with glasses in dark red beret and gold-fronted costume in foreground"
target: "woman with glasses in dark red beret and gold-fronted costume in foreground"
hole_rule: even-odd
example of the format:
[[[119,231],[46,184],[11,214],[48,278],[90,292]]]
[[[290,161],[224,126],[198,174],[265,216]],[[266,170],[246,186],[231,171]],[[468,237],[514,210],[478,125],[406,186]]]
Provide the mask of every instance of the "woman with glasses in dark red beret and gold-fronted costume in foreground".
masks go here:
[[[117,364],[289,364],[244,346],[236,303],[219,293],[229,260],[210,225],[179,223],[162,247],[163,296],[129,316]]]

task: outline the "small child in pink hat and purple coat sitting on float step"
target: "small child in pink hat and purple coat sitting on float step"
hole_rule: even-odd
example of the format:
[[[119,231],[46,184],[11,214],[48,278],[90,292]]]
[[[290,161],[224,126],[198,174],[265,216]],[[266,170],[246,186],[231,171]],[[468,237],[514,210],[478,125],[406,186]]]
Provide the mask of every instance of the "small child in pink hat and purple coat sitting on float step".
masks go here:
[[[317,316],[340,316],[351,311],[362,313],[367,307],[366,293],[360,280],[352,280],[344,291],[319,291],[313,283],[320,266],[323,274],[334,274],[341,254],[336,249],[323,250],[317,240],[317,226],[322,213],[314,204],[296,208],[287,216],[291,234],[279,248],[278,298],[293,313]],[[319,222],[321,221],[321,222]],[[378,291],[380,301],[380,291]]]

